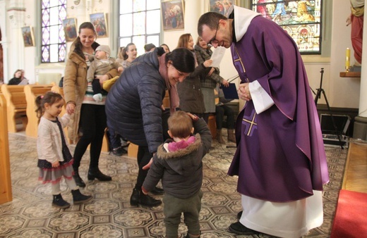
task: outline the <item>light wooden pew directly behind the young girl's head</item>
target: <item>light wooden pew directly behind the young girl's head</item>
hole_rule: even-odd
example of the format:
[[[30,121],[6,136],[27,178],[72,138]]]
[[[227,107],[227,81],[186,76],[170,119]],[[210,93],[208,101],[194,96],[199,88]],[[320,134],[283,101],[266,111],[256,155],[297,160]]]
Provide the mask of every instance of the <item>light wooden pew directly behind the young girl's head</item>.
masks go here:
[[[28,84],[24,86],[25,100],[27,101],[27,118],[28,124],[25,127],[25,134],[28,137],[37,137],[38,123],[35,99],[39,95],[44,95],[51,91],[53,84]]]

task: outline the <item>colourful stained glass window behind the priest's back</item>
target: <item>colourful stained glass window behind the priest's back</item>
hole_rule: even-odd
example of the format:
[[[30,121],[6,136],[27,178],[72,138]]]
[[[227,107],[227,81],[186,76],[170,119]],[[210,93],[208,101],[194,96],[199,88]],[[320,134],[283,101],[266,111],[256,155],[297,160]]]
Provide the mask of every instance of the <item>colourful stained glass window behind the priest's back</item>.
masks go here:
[[[280,25],[301,54],[321,54],[322,0],[252,0],[253,11]]]

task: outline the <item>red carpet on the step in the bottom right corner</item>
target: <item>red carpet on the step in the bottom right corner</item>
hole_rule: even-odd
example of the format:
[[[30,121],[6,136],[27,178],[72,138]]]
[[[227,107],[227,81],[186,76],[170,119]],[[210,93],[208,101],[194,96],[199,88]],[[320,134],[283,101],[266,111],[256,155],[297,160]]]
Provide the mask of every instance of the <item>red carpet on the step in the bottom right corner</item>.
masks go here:
[[[340,190],[330,238],[367,237],[367,194]]]

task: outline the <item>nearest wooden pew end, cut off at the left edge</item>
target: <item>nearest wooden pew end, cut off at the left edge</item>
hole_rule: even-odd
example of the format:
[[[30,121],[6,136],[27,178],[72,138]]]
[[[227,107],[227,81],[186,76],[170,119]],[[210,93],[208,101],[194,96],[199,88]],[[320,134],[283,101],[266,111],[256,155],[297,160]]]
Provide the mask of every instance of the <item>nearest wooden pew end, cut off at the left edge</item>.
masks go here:
[[[6,117],[6,100],[0,94],[0,204],[13,200],[11,192],[11,175],[9,161],[8,118]]]

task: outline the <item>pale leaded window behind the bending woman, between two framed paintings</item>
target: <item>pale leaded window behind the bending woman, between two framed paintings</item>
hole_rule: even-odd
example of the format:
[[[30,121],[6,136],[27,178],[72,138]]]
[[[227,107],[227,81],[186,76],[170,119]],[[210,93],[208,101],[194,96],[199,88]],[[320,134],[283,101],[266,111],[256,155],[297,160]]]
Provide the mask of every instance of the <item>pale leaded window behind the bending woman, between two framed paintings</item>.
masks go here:
[[[119,1],[119,46],[133,42],[138,55],[144,45],[160,45],[160,0]]]

